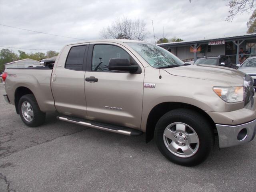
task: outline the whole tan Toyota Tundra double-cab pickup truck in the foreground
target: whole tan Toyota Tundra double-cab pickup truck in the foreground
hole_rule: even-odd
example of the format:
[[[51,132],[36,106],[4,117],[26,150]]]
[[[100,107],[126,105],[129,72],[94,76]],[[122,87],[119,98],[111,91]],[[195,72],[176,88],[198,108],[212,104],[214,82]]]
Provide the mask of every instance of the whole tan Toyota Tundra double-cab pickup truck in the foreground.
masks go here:
[[[231,68],[184,64],[154,44],[95,40],[62,48],[53,69],[7,68],[6,101],[30,127],[46,112],[62,121],[128,136],[145,133],[184,166],[220,148],[251,141],[256,96],[250,76]],[[139,146],[138,146],[139,147]]]

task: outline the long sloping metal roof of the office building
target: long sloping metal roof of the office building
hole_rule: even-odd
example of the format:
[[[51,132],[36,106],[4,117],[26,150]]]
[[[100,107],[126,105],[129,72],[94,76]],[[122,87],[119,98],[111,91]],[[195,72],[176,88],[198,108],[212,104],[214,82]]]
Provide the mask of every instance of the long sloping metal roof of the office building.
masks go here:
[[[230,37],[222,37],[222,38],[211,38],[211,39],[201,39],[201,40],[193,40],[193,41],[180,41],[180,42],[170,42],[170,43],[160,43],[157,44],[160,47],[175,47],[175,46],[186,46],[186,45],[194,45],[194,44],[208,44],[209,41],[218,41],[218,40],[226,40],[226,41],[234,41],[234,40],[255,40],[256,41],[256,33],[246,34],[241,36],[230,36]]]

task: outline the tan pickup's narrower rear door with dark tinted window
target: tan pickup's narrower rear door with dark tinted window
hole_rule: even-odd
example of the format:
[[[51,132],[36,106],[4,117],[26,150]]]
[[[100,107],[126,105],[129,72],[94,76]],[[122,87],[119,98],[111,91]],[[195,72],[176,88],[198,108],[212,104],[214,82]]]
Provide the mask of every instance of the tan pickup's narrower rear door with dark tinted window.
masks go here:
[[[86,118],[84,75],[88,44],[66,46],[52,74],[52,92],[58,112]]]

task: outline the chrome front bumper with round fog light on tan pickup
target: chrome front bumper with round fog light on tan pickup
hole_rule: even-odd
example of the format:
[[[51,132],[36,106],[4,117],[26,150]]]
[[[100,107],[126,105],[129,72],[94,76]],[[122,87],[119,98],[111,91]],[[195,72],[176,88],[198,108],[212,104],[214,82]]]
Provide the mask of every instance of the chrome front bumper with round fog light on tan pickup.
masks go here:
[[[253,140],[256,133],[256,119],[241,125],[216,124],[220,148],[239,145]]]

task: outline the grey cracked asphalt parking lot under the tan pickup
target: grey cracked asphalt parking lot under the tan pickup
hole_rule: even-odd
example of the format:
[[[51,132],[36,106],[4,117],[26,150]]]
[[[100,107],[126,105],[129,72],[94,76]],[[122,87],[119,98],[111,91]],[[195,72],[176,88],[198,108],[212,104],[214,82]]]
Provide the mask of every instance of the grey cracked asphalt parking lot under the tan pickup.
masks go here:
[[[0,191],[256,191],[256,140],[183,167],[144,135],[128,137],[56,120],[29,128],[0,84]]]

